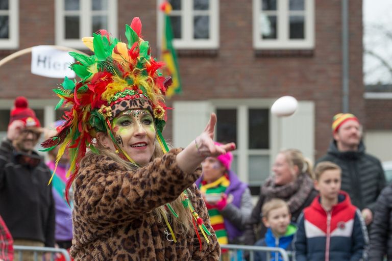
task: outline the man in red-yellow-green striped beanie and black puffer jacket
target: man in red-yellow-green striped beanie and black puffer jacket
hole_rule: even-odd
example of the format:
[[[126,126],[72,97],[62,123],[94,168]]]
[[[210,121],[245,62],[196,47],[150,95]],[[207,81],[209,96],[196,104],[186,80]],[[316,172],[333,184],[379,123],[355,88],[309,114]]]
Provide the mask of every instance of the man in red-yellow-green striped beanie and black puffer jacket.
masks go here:
[[[331,161],[342,170],[341,190],[349,193],[366,225],[372,223],[375,202],[385,186],[385,175],[380,161],[365,153],[362,141],[362,125],[350,113],[333,117],[333,140],[327,154],[317,160]]]

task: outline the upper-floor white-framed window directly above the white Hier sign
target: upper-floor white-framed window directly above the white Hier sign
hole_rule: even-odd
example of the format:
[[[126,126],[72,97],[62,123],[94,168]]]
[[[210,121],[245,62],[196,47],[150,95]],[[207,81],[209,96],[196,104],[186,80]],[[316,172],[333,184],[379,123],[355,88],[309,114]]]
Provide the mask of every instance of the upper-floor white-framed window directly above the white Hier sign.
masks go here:
[[[117,0],[56,0],[56,44],[86,48],[80,39],[100,29],[117,35]]]

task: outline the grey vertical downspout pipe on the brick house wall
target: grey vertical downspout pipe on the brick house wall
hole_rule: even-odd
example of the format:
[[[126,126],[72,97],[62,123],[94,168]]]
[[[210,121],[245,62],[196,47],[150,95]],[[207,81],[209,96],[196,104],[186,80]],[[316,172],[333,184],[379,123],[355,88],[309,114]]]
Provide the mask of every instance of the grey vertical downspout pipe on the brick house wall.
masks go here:
[[[342,112],[349,112],[349,0],[341,0]]]

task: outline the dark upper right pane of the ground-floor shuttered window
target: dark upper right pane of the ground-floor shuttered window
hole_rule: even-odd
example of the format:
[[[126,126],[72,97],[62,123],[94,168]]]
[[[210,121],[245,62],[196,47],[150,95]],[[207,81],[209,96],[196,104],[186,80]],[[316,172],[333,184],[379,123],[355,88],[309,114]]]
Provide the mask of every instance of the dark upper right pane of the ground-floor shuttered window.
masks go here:
[[[268,109],[249,110],[249,149],[269,148]]]

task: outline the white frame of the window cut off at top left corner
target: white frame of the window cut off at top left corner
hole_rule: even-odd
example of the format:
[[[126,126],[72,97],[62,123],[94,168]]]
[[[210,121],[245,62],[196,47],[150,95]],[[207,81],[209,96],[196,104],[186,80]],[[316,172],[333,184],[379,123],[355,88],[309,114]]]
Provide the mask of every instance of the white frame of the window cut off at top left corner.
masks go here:
[[[1,49],[16,49],[19,47],[19,0],[9,0],[9,10],[0,10],[0,15],[9,16],[9,38],[0,39]]]

